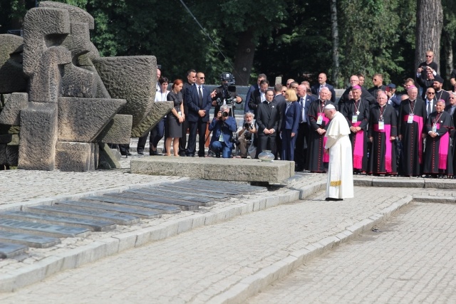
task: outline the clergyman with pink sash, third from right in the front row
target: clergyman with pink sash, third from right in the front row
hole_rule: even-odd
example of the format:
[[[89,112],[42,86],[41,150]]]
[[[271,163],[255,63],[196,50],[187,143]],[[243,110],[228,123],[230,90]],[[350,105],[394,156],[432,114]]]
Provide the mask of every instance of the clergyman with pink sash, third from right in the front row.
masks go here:
[[[372,142],[368,173],[378,175],[398,174],[396,163],[396,137],[398,136],[398,117],[393,105],[388,105],[388,96],[378,93],[378,105],[369,114],[369,141]]]

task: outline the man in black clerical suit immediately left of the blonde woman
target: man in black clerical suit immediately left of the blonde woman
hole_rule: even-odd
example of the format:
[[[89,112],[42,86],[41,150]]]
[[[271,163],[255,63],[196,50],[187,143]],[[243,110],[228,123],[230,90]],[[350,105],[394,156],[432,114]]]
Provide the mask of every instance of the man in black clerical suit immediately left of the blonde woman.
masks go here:
[[[260,103],[257,113],[258,125],[258,147],[257,156],[264,150],[271,150],[272,154],[276,157],[276,135],[279,131],[280,111],[277,103],[274,100],[274,91],[266,90],[266,100]]]

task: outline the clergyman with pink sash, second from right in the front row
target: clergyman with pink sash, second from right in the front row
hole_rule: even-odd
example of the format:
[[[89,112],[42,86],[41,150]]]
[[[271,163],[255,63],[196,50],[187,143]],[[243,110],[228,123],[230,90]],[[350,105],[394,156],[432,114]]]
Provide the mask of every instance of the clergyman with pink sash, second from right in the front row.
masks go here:
[[[411,86],[407,93],[409,98],[400,103],[398,131],[403,147],[400,169],[403,175],[411,177],[421,174],[427,112],[423,100],[417,98],[418,88]]]

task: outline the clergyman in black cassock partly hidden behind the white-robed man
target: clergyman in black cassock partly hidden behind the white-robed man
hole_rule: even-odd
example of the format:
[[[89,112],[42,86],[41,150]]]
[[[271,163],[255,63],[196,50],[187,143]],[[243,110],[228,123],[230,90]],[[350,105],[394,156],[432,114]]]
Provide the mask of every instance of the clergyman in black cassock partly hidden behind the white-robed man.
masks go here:
[[[334,105],[329,98],[329,89],[320,90],[320,98],[311,103],[309,107],[310,127],[309,142],[307,145],[307,169],[310,172],[327,172],[329,155],[324,154],[326,143],[325,132],[328,129],[329,119],[325,116],[326,105]],[[335,106],[335,105],[334,105]]]

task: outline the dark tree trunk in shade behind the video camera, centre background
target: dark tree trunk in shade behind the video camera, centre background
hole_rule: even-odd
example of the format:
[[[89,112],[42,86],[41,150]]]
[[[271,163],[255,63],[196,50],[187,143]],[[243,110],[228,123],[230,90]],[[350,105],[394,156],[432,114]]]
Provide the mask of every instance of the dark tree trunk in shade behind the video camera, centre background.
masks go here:
[[[239,35],[236,58],[234,59],[234,77],[237,85],[249,85],[250,71],[254,64],[254,31],[249,28]]]

